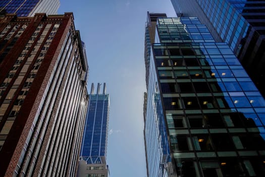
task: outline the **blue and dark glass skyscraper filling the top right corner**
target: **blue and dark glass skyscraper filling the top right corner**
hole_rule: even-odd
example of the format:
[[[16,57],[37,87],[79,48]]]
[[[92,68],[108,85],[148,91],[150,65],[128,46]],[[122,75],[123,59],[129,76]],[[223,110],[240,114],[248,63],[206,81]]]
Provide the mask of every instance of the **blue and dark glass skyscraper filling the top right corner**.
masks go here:
[[[198,17],[227,42],[265,98],[265,1],[171,0],[179,17]]]

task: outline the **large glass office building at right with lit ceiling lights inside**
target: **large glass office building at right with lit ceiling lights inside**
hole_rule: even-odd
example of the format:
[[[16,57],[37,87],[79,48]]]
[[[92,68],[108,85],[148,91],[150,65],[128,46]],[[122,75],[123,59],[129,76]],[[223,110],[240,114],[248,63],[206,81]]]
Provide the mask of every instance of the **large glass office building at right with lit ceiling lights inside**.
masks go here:
[[[264,176],[265,101],[230,47],[196,17],[157,18],[154,41],[148,176]]]

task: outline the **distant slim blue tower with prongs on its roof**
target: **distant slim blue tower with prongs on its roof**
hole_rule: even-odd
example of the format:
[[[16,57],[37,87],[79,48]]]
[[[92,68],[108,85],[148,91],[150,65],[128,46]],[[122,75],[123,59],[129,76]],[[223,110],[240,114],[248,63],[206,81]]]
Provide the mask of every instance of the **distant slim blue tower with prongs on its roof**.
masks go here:
[[[97,84],[96,94],[94,94],[94,84],[91,85],[77,176],[109,175],[106,159],[110,98],[109,94],[106,94],[105,83],[100,94],[100,85]]]

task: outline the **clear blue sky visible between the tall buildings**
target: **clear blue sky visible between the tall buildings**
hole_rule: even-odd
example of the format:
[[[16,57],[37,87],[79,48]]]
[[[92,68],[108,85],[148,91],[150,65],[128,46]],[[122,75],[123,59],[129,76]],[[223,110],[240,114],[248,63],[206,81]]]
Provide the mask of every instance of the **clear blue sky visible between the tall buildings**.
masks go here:
[[[146,176],[143,140],[144,26],[147,11],[175,17],[170,0],[61,0],[86,44],[91,83],[107,83],[111,177]]]

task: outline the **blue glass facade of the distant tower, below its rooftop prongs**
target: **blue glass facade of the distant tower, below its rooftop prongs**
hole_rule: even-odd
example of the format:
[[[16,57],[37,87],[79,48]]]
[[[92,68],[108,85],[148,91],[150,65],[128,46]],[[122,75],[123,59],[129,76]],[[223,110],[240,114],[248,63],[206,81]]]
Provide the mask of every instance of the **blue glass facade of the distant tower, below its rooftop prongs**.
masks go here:
[[[108,116],[109,95],[90,94],[80,154],[87,163],[96,163],[97,157],[107,156]]]

